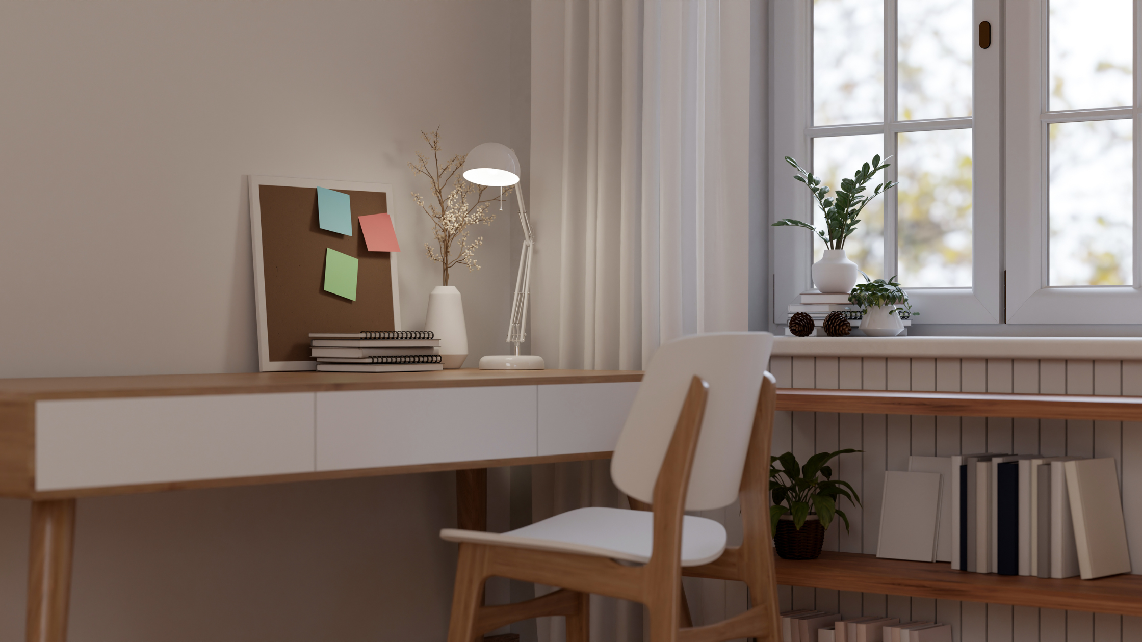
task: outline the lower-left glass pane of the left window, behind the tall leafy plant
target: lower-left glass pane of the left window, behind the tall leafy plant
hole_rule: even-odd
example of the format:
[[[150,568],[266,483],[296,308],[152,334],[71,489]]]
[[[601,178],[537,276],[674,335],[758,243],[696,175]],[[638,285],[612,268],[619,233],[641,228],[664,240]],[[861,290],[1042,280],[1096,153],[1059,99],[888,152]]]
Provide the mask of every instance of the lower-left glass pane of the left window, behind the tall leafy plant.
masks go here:
[[[884,136],[837,136],[813,139],[813,174],[818,175],[830,191],[841,186],[842,178],[850,178],[862,164],[876,154],[884,155]],[[880,178],[884,172],[877,174]],[[789,178],[793,180],[793,177]],[[875,187],[875,185],[874,185]],[[821,210],[813,212],[813,225],[825,228]],[[845,241],[845,254],[872,279],[884,278],[884,196],[877,196],[864,208],[856,230]],[[813,260],[819,260],[825,243],[813,241]],[[891,274],[890,274],[891,276]]]

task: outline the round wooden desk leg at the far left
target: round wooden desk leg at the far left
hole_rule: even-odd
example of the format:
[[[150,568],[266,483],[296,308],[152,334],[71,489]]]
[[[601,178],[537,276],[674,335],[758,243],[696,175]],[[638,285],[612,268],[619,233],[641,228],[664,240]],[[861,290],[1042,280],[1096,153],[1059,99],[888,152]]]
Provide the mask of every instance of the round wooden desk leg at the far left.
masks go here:
[[[66,642],[75,500],[32,501],[27,642]]]

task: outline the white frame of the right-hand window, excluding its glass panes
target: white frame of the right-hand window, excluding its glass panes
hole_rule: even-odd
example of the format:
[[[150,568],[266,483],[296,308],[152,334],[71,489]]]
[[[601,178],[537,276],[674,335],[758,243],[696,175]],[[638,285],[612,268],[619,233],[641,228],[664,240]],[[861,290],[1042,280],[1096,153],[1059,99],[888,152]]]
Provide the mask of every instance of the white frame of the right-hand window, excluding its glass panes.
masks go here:
[[[1093,6],[1092,6],[1093,8]],[[1047,96],[1047,0],[1006,2],[1006,211],[1008,323],[1126,323],[1142,311],[1142,162],[1139,155],[1139,2],[1134,2],[1134,106],[1049,112]],[[1047,133],[1053,122],[1132,118],[1134,121],[1133,286],[1049,286]]]

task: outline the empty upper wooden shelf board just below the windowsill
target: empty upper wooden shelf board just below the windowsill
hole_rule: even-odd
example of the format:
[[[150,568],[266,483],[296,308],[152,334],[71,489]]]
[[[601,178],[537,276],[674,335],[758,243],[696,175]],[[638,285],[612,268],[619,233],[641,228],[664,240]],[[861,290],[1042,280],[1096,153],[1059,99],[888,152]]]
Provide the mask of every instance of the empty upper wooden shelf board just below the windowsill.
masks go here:
[[[1142,422],[1142,396],[778,388],[778,410]]]

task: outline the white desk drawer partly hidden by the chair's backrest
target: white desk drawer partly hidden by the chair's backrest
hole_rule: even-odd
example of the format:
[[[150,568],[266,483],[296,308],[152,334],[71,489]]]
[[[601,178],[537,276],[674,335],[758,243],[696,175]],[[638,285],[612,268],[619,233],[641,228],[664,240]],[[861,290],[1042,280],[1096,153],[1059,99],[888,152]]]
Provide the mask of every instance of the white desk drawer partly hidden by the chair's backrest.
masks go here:
[[[539,386],[539,454],[614,450],[637,383]]]

